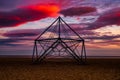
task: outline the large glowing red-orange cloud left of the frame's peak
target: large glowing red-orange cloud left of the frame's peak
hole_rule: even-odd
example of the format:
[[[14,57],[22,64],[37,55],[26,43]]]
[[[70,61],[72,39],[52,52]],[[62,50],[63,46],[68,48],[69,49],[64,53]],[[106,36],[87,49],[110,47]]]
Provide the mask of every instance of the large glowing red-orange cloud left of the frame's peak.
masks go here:
[[[9,12],[0,12],[0,27],[17,26],[29,21],[58,15],[59,6],[55,4],[41,4],[18,8]]]

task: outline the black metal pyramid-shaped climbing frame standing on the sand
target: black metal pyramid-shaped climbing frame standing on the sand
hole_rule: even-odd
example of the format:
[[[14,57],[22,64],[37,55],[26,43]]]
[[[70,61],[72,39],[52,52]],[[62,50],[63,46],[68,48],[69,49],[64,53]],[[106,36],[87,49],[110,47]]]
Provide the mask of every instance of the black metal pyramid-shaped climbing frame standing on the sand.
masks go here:
[[[61,17],[58,17],[34,41],[33,62],[46,57],[72,57],[78,63],[86,62],[85,41]]]

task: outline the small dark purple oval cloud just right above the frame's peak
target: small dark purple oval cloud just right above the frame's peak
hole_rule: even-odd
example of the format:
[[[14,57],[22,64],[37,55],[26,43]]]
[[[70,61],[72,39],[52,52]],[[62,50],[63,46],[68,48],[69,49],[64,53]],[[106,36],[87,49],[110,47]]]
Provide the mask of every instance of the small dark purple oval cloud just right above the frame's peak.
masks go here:
[[[96,11],[95,7],[72,7],[61,10],[60,13],[63,14],[64,16],[80,16],[95,11]]]

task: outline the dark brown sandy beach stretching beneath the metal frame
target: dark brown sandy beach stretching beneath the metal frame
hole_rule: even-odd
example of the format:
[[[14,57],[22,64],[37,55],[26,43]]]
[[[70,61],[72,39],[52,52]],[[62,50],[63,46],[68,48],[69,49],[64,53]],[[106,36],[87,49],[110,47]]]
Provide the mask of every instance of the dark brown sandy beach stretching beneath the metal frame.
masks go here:
[[[1,58],[0,80],[120,80],[120,59],[88,59],[32,64],[27,58]]]

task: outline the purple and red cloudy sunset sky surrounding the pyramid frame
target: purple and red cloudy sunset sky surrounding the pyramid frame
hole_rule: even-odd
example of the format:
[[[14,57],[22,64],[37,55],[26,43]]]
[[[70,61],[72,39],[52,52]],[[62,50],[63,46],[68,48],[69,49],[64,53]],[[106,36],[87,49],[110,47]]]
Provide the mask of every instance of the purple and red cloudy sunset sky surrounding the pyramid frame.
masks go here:
[[[85,39],[88,56],[120,56],[120,0],[0,0],[0,55],[32,55],[58,16]]]

